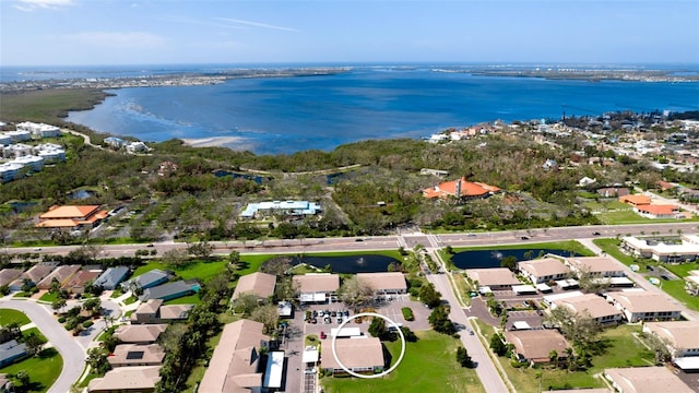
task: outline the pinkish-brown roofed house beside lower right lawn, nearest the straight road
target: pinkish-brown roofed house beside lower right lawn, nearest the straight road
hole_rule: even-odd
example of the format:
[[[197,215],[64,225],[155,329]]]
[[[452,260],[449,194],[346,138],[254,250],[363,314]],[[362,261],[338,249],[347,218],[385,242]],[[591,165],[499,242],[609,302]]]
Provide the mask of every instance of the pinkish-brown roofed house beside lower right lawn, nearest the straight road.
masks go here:
[[[566,349],[569,347],[562,334],[549,329],[506,331],[505,338],[514,345],[520,361],[526,360],[534,365],[550,362],[552,350],[558,354],[558,361],[565,360]]]

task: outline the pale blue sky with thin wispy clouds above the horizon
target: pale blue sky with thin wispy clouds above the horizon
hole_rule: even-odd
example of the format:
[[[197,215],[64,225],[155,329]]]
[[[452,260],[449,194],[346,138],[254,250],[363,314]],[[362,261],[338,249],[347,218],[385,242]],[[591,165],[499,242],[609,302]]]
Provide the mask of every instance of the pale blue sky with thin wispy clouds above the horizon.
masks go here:
[[[699,1],[0,0],[0,64],[699,63]]]

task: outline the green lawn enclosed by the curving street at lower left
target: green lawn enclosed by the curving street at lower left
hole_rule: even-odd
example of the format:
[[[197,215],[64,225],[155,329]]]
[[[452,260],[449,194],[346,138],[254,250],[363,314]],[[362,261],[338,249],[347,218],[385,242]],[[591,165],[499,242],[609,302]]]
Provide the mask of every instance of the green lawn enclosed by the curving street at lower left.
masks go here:
[[[39,356],[26,358],[0,369],[0,373],[17,373],[25,370],[29,374],[28,392],[46,392],[63,369],[63,359],[55,348],[44,349]]]

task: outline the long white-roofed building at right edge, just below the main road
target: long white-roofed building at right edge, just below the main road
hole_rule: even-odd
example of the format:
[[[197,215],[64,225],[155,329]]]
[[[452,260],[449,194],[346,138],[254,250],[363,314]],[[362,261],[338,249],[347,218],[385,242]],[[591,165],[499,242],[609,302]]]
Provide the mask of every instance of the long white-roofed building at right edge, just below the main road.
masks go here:
[[[637,258],[651,258],[659,262],[691,262],[699,259],[699,236],[682,235],[679,243],[666,243],[635,236],[621,238],[621,249]]]

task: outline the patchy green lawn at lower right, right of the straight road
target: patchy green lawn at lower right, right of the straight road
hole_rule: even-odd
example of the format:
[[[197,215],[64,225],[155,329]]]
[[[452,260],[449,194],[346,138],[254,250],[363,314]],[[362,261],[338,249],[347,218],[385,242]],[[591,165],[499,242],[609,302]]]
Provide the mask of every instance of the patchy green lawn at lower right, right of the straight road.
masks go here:
[[[493,334],[493,327],[478,321],[487,341]],[[640,333],[640,325],[620,325],[608,329],[600,335],[602,353],[592,359],[592,367],[585,371],[566,371],[549,366],[543,368],[513,368],[509,359],[498,358],[518,393],[538,392],[538,373],[542,373],[541,385],[544,391],[574,389],[574,388],[605,388],[604,382],[594,377],[613,367],[643,367],[652,366],[654,355],[643,346],[632,333]]]

